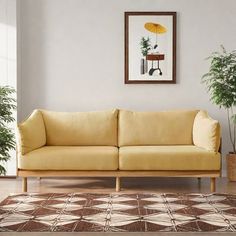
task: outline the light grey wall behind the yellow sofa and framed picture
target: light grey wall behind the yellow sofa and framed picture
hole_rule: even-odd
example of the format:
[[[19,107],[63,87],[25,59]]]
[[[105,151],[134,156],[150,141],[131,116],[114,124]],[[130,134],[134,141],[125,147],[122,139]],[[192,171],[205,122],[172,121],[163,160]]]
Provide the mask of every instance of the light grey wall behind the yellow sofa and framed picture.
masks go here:
[[[21,0],[19,119],[35,108],[206,109],[223,128],[201,76],[220,44],[235,49],[235,0]],[[177,84],[124,84],[124,12],[177,11]]]

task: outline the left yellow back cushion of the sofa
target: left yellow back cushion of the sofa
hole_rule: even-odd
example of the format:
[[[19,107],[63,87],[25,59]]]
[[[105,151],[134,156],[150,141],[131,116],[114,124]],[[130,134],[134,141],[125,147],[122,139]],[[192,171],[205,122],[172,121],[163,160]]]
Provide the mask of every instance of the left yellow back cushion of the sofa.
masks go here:
[[[117,146],[117,110],[42,114],[47,145]]]

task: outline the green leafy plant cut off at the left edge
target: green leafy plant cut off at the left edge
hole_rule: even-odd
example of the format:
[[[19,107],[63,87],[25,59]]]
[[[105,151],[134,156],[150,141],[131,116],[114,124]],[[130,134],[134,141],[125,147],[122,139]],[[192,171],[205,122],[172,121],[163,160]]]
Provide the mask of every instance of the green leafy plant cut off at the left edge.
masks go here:
[[[13,111],[16,109],[16,100],[12,97],[15,90],[9,86],[0,86],[0,175],[6,174],[2,162],[10,159],[10,150],[15,149],[15,135],[9,124],[15,119]]]

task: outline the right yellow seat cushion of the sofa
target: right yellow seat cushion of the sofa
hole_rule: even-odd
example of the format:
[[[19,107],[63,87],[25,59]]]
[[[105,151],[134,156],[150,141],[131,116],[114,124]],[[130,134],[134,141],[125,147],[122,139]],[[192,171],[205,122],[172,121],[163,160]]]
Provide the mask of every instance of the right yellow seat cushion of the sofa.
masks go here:
[[[119,150],[120,170],[219,170],[220,153],[192,145],[133,146]]]

